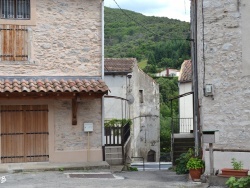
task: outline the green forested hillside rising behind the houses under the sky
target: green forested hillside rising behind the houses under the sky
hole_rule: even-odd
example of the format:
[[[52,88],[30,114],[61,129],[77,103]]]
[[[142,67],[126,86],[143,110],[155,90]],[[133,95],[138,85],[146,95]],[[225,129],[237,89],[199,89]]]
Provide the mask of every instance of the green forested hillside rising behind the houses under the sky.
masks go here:
[[[105,7],[105,57],[148,60],[151,73],[180,68],[190,59],[189,30],[187,22]]]

